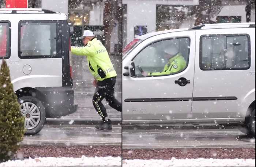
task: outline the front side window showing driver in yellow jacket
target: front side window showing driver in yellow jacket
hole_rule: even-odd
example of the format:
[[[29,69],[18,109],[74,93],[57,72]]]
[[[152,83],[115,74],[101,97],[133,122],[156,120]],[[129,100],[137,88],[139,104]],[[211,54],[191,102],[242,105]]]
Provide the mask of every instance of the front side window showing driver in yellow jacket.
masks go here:
[[[133,59],[135,76],[164,76],[187,68],[190,39],[188,37],[151,43]]]

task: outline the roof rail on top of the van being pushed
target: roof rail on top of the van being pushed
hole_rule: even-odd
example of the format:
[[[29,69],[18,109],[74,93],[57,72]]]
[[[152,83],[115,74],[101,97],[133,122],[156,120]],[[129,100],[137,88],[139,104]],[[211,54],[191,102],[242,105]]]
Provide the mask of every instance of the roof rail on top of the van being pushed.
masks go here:
[[[0,13],[59,13],[41,8],[2,8]]]

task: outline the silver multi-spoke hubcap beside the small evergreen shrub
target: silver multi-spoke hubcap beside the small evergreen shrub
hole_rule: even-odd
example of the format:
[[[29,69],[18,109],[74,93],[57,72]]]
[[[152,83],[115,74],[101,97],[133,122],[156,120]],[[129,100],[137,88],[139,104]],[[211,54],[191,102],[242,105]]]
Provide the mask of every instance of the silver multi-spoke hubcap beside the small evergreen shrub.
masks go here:
[[[41,114],[39,108],[34,103],[22,103],[19,109],[22,115],[25,116],[24,126],[27,130],[31,130],[39,124]]]

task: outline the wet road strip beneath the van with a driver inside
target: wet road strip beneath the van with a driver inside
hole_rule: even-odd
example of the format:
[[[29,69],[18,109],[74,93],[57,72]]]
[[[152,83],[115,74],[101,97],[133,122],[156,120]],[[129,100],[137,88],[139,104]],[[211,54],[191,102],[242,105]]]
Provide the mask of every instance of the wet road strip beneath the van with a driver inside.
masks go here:
[[[255,139],[234,129],[123,127],[123,148],[255,147]]]

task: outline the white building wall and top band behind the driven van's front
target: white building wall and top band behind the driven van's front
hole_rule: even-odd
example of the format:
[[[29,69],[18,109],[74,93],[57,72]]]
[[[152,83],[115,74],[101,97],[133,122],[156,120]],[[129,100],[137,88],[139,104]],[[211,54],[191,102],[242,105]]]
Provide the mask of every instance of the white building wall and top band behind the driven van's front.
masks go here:
[[[134,38],[134,26],[147,25],[147,32],[155,30],[157,5],[198,5],[198,0],[123,0],[127,4],[127,44]]]

